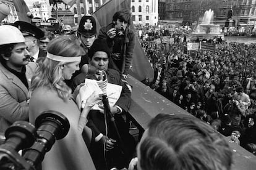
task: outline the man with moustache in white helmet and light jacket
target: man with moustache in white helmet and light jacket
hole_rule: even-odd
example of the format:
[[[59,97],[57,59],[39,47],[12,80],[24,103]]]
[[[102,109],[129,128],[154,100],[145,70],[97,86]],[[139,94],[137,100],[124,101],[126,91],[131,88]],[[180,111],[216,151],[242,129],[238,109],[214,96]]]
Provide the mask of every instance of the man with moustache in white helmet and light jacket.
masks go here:
[[[29,62],[25,38],[18,28],[0,26],[0,143],[7,127],[28,120],[28,87],[36,63]]]

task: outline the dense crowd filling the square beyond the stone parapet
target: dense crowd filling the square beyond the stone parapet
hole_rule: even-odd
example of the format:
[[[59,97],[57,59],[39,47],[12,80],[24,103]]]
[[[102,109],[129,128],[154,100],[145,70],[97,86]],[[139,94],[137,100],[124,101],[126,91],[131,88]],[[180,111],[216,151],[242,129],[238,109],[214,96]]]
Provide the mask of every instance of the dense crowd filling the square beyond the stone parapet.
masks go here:
[[[185,52],[186,42],[154,39],[141,40],[155,72],[146,84],[255,153],[256,44],[223,41],[214,51]]]

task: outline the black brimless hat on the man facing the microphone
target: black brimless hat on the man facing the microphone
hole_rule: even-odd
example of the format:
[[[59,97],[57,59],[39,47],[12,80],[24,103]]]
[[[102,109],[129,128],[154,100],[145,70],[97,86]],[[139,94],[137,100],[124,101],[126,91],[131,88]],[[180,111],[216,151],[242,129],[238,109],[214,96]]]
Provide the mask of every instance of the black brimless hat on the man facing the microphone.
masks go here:
[[[106,52],[106,54],[108,54],[108,58],[110,58],[111,52],[106,42],[106,39],[95,39],[92,47],[90,47],[90,49],[88,50],[88,56],[90,57],[90,59],[92,59],[93,55],[97,51]]]

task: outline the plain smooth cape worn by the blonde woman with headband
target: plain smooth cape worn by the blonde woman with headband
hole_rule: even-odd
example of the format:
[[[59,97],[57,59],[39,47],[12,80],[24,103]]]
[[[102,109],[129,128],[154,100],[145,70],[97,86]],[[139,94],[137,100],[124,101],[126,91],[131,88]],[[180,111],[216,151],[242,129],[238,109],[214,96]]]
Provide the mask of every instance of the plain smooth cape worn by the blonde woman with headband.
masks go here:
[[[85,126],[85,140],[78,130],[80,110],[72,99],[64,102],[56,91],[47,87],[39,87],[32,93],[29,107],[30,123],[43,111],[59,111],[69,120],[70,129],[66,137],[56,140],[51,150],[46,153],[42,162],[42,169],[47,170],[79,170],[95,169],[85,140],[90,140],[92,131]]]

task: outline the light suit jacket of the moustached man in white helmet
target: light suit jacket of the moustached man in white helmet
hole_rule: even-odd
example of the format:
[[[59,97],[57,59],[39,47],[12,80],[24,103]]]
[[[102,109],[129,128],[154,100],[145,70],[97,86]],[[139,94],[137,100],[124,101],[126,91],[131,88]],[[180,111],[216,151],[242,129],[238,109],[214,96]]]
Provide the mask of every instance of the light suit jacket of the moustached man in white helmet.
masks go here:
[[[28,86],[37,68],[36,63],[26,65]],[[0,135],[18,120],[28,120],[28,89],[20,79],[0,63]]]

